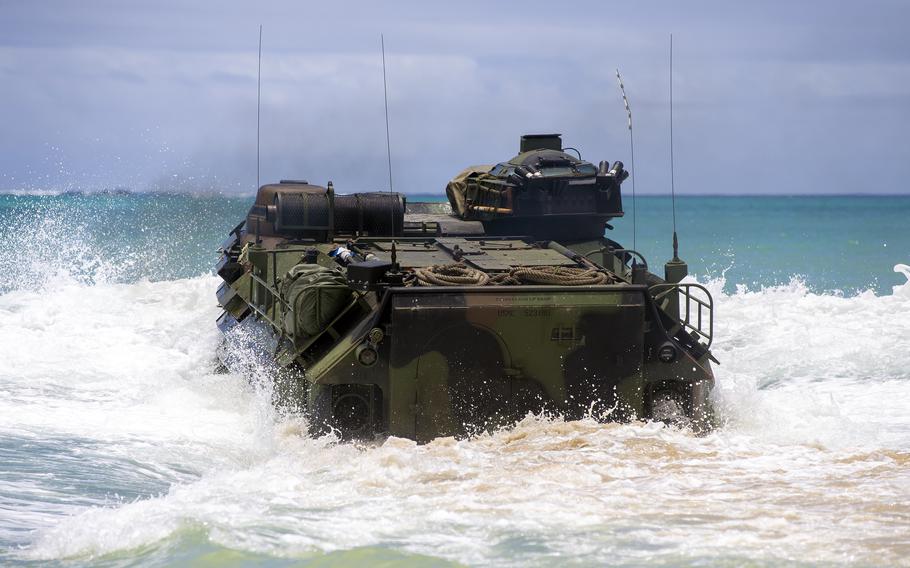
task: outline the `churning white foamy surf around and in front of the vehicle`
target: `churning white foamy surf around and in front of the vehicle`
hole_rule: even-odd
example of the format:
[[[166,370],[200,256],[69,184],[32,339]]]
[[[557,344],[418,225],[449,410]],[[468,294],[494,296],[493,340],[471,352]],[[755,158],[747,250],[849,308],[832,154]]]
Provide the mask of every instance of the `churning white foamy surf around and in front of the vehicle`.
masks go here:
[[[910,283],[848,297],[708,282],[722,425],[705,437],[529,416],[358,446],[307,437],[266,381],[214,373],[217,278],[125,282],[81,250],[78,270],[48,253],[30,268],[44,277],[0,295],[4,562],[173,547],[497,565],[910,557]]]

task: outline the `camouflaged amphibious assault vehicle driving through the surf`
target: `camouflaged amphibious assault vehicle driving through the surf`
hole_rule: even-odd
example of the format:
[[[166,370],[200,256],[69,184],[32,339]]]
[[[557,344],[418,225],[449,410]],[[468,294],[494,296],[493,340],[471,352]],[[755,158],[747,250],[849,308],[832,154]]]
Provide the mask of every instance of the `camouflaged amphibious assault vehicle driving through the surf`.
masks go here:
[[[604,236],[629,174],[572,152],[523,136],[448,203],[264,185],[221,247],[218,326],[260,331],[317,432],[425,442],[529,412],[704,431],[711,296],[675,254],[660,278]]]

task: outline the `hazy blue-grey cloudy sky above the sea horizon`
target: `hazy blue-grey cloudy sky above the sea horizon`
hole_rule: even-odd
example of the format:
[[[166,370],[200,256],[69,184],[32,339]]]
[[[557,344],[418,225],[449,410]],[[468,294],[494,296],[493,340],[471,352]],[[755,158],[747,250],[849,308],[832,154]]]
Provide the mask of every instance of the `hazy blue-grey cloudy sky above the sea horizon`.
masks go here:
[[[0,0],[0,190],[396,191],[559,132],[678,194],[908,194],[910,2]],[[628,191],[628,189],[626,189]]]

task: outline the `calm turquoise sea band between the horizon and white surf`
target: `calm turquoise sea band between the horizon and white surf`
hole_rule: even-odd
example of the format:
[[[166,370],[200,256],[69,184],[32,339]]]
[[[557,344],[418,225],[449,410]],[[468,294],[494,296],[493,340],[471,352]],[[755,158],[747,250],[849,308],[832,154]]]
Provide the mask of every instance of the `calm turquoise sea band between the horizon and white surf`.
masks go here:
[[[30,268],[80,249],[65,267],[86,281],[99,274],[120,282],[189,278],[210,272],[213,251],[251,203],[251,196],[180,193],[0,194],[0,236],[28,247],[20,253]],[[672,256],[670,199],[638,197],[633,206],[626,195],[624,206],[626,216],[607,236],[627,247],[634,242],[659,268]],[[723,277],[728,292],[794,279],[816,292],[890,292],[903,283],[893,266],[910,262],[908,219],[910,196],[677,198],[680,256],[702,278]],[[21,270],[15,256],[4,263]],[[15,271],[0,274],[3,289],[21,284]]]

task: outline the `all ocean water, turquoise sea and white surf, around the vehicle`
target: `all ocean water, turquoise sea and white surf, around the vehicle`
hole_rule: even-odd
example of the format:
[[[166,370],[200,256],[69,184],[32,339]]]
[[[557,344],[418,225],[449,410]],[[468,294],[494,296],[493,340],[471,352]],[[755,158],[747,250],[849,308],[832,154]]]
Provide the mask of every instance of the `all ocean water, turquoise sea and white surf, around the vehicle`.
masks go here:
[[[309,438],[213,372],[250,202],[0,195],[0,565],[910,566],[910,197],[677,200],[708,436],[529,416],[422,446]],[[669,201],[635,205],[659,270]]]

